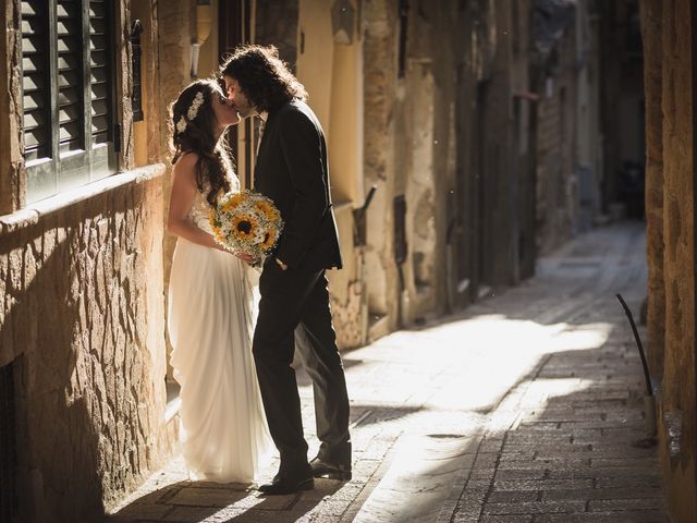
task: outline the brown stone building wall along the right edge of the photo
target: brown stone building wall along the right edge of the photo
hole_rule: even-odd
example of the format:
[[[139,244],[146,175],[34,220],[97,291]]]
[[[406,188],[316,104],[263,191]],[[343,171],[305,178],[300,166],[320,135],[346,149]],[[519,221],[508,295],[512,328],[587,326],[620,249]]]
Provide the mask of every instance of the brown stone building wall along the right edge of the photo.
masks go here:
[[[641,1],[646,89],[648,358],[672,521],[697,513],[695,195],[697,8]]]

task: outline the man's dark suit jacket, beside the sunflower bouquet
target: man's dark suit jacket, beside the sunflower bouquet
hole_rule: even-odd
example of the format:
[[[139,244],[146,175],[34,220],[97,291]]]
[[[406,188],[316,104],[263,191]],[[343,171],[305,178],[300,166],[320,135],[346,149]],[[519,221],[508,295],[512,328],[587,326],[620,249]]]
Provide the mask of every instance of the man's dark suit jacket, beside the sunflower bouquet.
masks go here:
[[[285,221],[276,251],[281,262],[291,268],[341,268],[325,133],[307,104],[292,100],[269,112],[255,188],[273,200]]]

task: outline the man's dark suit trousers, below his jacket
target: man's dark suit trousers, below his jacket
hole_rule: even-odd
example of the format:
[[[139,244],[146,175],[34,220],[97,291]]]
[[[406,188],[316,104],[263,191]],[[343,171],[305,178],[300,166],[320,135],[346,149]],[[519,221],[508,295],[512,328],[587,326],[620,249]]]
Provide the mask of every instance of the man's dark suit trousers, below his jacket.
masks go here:
[[[283,271],[268,260],[259,291],[264,299],[259,303],[254,355],[269,430],[282,465],[307,461],[297,382],[291,367],[296,346],[313,379],[317,436],[322,442],[319,454],[331,462],[350,460],[348,399],[325,271]]]

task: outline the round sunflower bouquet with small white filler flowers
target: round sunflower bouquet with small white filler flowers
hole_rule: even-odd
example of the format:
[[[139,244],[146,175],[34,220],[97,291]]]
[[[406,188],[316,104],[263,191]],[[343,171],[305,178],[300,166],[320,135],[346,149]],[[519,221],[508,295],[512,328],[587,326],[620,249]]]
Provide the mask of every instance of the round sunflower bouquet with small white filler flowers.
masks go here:
[[[257,259],[276,246],[283,220],[273,202],[253,191],[227,193],[208,217],[216,242],[225,250]]]

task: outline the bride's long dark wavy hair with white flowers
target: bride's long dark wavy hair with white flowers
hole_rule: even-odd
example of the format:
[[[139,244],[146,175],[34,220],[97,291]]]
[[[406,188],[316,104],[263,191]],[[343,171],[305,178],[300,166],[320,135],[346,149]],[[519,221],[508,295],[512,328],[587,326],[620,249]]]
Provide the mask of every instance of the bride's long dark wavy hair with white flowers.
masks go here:
[[[201,93],[203,102],[193,119],[189,109],[194,106],[196,95]],[[208,185],[206,199],[215,206],[218,198],[230,191],[232,174],[232,154],[228,142],[216,137],[218,120],[212,110],[216,97],[223,96],[220,86],[211,80],[197,80],[182,90],[170,108],[170,133],[172,136],[172,165],[186,153],[196,153],[196,186],[201,193]]]

